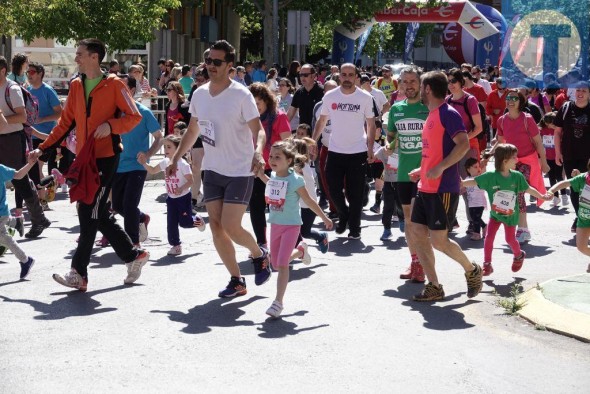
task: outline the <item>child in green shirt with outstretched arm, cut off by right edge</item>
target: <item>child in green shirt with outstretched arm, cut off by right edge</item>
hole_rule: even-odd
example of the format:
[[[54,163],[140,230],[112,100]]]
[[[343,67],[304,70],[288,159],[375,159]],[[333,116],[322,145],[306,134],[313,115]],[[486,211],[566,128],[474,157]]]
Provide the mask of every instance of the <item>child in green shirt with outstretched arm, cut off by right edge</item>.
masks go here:
[[[580,174],[580,170],[572,171],[573,178],[561,181],[551,186],[547,192],[549,195],[556,193],[566,187],[571,187],[573,191],[580,193],[580,207],[578,208],[578,219],[576,227],[576,247],[584,255],[590,257],[590,160],[586,165],[586,172]],[[586,272],[590,272],[590,263]]]

